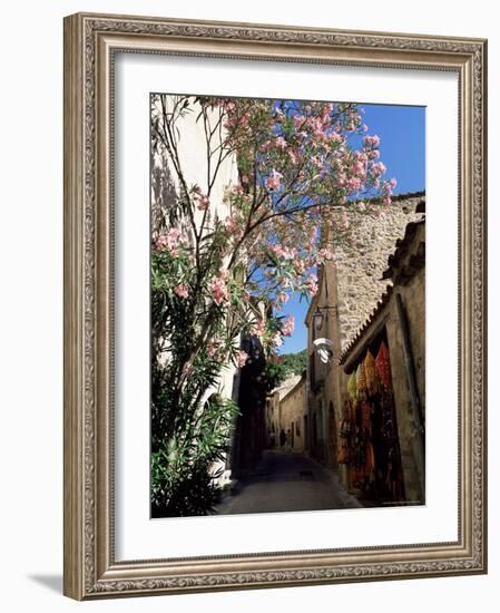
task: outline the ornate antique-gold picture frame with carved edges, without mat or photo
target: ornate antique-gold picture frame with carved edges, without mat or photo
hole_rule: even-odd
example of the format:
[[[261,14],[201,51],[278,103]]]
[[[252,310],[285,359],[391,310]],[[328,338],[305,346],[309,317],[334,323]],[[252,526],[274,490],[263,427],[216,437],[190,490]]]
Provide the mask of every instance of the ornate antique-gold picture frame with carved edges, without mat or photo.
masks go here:
[[[459,95],[458,539],[116,560],[116,53],[448,71]],[[65,19],[65,578],[77,600],[487,572],[487,41],[78,13]],[[148,408],[145,407],[145,411]]]

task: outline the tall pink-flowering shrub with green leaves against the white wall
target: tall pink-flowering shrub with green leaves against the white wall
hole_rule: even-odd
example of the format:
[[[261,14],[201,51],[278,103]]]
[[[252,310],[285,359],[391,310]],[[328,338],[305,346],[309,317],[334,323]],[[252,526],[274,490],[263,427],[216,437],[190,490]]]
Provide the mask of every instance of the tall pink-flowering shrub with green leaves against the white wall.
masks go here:
[[[205,135],[205,185],[189,184],[178,155],[189,114]],[[236,409],[205,397],[228,363],[247,363],[239,339],[272,353],[292,334],[293,318],[280,315],[290,294],[317,292],[316,267],[334,261],[356,216],[391,203],[395,182],[355,105],[157,95],[151,118],[178,186],[151,249],[153,508],[193,515],[216,499],[209,467]],[[214,202],[231,157],[239,182]],[[196,504],[188,483],[204,493]]]

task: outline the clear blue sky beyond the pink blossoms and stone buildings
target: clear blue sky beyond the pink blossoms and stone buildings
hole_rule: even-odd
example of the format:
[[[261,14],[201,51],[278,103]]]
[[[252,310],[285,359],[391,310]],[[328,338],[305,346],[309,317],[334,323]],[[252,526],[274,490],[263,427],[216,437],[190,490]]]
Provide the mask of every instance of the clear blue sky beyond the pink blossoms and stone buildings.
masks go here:
[[[385,178],[395,177],[394,194],[425,189],[425,108],[393,105],[363,105],[363,123],[367,134],[381,138],[380,158],[388,172]],[[280,353],[293,353],[305,349],[307,342],[304,318],[308,303],[300,296],[291,296],[283,313],[295,318],[294,333],[284,339]]]

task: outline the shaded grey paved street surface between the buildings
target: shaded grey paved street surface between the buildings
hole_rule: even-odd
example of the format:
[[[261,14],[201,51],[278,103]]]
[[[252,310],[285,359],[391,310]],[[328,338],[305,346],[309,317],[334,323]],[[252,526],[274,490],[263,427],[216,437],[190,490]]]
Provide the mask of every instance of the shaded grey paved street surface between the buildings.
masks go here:
[[[265,450],[256,468],[216,506],[215,514],[356,508],[333,470],[302,454]]]

